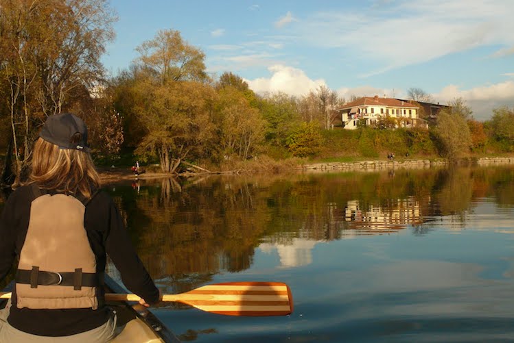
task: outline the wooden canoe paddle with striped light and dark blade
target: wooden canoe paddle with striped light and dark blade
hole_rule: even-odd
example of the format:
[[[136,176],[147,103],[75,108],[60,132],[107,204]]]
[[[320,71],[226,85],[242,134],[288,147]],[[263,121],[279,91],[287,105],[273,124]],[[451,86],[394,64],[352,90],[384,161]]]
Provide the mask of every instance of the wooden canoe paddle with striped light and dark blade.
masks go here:
[[[0,298],[11,293],[0,292]],[[108,301],[139,301],[136,294],[107,293]],[[163,294],[161,301],[178,301],[227,316],[286,316],[293,311],[291,290],[279,282],[229,282],[205,285],[180,294]]]

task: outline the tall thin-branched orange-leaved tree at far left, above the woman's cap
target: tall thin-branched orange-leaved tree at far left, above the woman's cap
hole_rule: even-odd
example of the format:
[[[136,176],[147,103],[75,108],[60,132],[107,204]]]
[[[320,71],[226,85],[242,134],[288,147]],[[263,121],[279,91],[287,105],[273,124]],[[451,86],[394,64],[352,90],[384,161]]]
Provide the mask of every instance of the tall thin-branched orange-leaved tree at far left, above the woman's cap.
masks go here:
[[[45,116],[62,112],[73,103],[73,92],[102,79],[100,57],[114,37],[113,21],[107,0],[0,5],[0,86],[10,116],[15,182]]]

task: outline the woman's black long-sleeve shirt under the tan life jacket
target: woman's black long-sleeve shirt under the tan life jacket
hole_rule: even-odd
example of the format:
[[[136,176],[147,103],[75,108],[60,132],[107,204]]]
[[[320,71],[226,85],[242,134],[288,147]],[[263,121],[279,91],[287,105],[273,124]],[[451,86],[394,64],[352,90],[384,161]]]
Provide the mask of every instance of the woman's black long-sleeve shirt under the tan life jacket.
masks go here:
[[[0,217],[0,280],[8,274],[19,257],[30,219],[32,192],[29,186],[18,188],[8,198]],[[49,218],[51,220],[51,218]],[[106,254],[113,260],[128,290],[147,303],[159,301],[159,290],[137,256],[126,233],[124,222],[113,200],[100,192],[86,206],[84,226],[96,257],[97,272],[104,272]],[[108,309],[19,309],[16,292],[12,294],[10,325],[34,335],[73,335],[100,327],[108,320]],[[99,296],[103,296],[100,290]],[[101,302],[103,303],[103,302]]]

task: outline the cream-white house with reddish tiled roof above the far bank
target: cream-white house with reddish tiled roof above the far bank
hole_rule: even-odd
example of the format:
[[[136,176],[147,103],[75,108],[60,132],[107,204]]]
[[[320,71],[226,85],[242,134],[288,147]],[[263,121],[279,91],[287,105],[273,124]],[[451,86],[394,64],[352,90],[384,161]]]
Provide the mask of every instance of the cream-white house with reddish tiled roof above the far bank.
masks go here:
[[[415,127],[419,119],[419,106],[410,101],[392,98],[363,97],[338,109],[344,129],[356,129],[359,120],[366,125],[377,125],[381,117],[397,119],[397,127]]]

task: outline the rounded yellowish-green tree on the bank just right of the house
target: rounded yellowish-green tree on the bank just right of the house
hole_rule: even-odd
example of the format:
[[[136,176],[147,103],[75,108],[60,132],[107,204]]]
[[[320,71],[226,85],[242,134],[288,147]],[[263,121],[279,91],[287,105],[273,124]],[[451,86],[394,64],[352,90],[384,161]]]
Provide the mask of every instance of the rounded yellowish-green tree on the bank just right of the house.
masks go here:
[[[462,99],[450,103],[452,107],[441,110],[437,115],[436,134],[441,143],[441,154],[449,160],[456,160],[469,152],[471,133],[467,119],[471,109]]]

